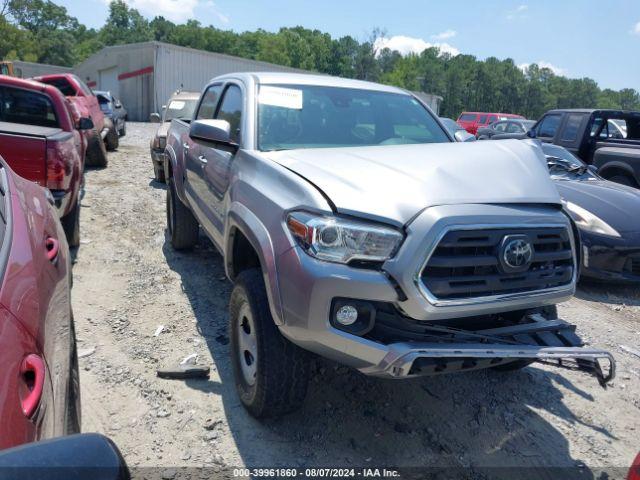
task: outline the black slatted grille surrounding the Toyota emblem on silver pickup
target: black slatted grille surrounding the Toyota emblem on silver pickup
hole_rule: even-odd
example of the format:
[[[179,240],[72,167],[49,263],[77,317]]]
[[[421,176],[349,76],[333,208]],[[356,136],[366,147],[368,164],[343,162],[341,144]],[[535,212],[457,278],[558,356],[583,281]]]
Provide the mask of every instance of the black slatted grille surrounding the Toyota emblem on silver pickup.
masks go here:
[[[505,271],[500,259],[507,237],[528,239],[533,254],[524,271]],[[452,230],[445,234],[421,273],[439,300],[530,292],[571,283],[574,274],[569,231],[557,228]]]

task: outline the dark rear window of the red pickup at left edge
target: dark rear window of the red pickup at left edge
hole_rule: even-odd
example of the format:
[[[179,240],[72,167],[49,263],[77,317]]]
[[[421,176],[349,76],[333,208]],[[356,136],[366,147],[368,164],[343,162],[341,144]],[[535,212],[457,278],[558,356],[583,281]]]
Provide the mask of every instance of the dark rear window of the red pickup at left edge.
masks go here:
[[[58,119],[48,96],[29,90],[0,87],[0,121],[57,127]]]

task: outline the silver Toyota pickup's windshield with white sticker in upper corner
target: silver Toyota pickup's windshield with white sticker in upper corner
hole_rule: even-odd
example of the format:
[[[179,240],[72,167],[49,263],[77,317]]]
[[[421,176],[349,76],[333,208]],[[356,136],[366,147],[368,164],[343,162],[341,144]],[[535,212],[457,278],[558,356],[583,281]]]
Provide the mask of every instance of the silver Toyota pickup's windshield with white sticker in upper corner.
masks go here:
[[[410,95],[315,85],[260,87],[262,151],[450,141]]]

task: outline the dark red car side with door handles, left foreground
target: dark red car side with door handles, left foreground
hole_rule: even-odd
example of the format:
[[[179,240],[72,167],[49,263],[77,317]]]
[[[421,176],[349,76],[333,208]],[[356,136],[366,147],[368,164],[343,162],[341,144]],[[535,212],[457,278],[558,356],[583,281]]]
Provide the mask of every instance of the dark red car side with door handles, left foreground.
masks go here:
[[[0,158],[0,449],[80,430],[71,264],[53,203]]]

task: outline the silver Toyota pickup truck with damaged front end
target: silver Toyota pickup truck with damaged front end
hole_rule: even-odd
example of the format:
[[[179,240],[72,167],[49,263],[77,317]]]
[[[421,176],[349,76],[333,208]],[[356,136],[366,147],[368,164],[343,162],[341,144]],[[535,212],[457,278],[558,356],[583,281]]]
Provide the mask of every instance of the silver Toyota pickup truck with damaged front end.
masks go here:
[[[390,378],[533,361],[613,377],[557,317],[579,238],[541,150],[455,140],[403,90],[301,74],[215,78],[173,120],[171,243],[202,227],[223,255],[252,415],[301,404],[312,353]]]

